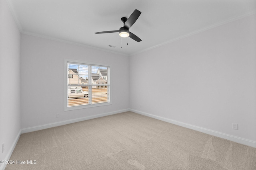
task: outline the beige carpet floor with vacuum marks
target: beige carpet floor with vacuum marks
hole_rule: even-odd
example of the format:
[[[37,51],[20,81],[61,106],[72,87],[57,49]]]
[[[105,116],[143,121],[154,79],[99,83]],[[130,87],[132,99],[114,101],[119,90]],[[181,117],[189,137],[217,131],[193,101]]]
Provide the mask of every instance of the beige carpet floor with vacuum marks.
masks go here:
[[[24,133],[10,160],[26,163],[6,170],[256,170],[256,148],[129,111]]]

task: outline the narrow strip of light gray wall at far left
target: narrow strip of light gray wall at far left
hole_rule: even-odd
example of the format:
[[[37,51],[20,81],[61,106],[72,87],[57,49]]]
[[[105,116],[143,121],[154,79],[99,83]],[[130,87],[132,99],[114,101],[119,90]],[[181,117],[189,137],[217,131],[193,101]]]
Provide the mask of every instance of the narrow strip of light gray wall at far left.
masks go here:
[[[20,132],[20,31],[4,0],[0,0],[0,74],[0,160],[6,160]]]

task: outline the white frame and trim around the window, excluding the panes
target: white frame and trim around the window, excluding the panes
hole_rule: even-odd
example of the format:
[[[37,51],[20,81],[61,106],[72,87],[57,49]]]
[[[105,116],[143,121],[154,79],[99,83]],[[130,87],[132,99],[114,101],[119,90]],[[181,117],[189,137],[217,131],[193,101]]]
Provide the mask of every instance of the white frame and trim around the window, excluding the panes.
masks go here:
[[[68,63],[77,63],[77,64],[84,64],[84,65],[95,65],[95,66],[106,66],[106,67],[108,67],[109,68],[109,77],[108,77],[109,102],[68,107]],[[111,102],[111,91],[112,91],[111,90],[111,86],[112,86],[111,85],[111,77],[112,76],[111,76],[111,65],[110,64],[92,63],[92,62],[79,61],[79,60],[74,60],[74,59],[64,59],[64,111],[111,105],[112,104],[112,102]],[[97,84],[95,84],[95,85],[97,86]]]

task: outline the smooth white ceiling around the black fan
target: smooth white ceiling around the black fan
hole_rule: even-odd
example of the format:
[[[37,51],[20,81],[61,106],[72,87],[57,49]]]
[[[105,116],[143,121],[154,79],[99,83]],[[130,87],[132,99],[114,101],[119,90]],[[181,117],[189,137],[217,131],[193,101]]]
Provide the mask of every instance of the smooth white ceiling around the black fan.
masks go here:
[[[256,0],[6,0],[21,33],[132,55],[256,13]],[[122,17],[142,14],[122,38]],[[129,45],[127,44],[127,41]],[[116,46],[108,47],[109,45]]]

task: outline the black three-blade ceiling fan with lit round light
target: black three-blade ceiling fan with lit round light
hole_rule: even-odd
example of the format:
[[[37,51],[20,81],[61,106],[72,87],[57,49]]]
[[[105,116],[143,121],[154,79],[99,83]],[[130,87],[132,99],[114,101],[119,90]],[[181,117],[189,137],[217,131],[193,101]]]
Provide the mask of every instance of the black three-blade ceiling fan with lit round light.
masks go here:
[[[137,37],[134,33],[131,33],[129,31],[130,27],[135,23],[135,21],[139,18],[141,12],[139,10],[134,10],[130,17],[127,19],[126,17],[122,17],[121,21],[124,23],[124,26],[121,27],[119,30],[114,31],[102,31],[102,32],[96,32],[96,34],[102,34],[102,33],[117,33],[119,32],[120,37],[130,37],[134,39],[137,42],[140,42],[141,39]]]

